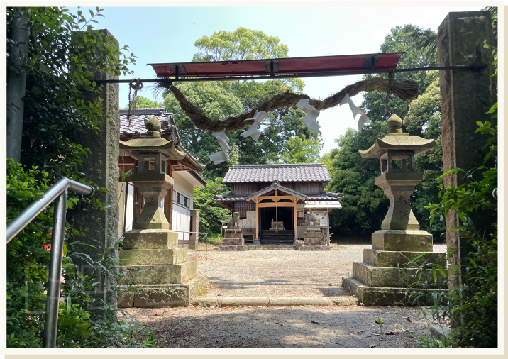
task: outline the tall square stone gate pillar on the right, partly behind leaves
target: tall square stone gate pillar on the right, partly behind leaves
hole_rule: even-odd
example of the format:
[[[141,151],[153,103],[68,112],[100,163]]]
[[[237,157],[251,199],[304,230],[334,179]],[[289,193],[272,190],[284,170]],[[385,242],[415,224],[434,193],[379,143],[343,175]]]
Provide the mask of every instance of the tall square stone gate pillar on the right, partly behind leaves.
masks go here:
[[[492,68],[491,51],[483,48],[483,42],[493,43],[492,21],[489,11],[468,11],[448,13],[438,28],[439,66],[471,65],[481,54],[481,61],[487,65],[482,73],[468,70],[440,70],[441,128],[443,145],[443,171],[462,168],[466,172],[482,165],[483,157],[478,148],[485,144],[485,136],[475,133],[477,121],[490,121],[490,107],[496,101],[495,78]],[[444,178],[444,187],[461,184],[460,177]],[[488,214],[487,214],[488,215]],[[485,214],[472,214],[473,223],[483,230]],[[448,214],[446,228],[460,225],[455,214]],[[487,228],[488,232],[488,228]],[[447,233],[446,244],[451,254],[451,263],[460,264],[472,248],[461,243],[458,231]],[[455,254],[454,248],[460,248]],[[460,277],[448,277],[451,287],[460,287]]]

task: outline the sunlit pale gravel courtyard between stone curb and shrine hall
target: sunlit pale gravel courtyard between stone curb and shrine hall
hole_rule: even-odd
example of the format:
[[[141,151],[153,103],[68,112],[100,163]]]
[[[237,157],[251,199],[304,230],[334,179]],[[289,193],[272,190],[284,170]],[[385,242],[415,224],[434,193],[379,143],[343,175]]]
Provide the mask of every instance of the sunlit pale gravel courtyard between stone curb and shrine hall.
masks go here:
[[[334,250],[248,250],[191,253],[199,273],[208,275],[206,297],[341,297],[342,277],[352,275],[370,243],[335,245]],[[446,244],[434,245],[446,252]]]

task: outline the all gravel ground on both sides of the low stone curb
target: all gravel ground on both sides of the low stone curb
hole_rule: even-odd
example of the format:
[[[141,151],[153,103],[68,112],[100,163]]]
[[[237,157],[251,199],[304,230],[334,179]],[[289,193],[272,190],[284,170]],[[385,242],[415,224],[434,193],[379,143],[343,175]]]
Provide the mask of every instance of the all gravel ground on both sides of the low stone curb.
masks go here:
[[[343,276],[370,243],[327,252],[199,250],[190,253],[209,276],[205,296],[339,297]],[[210,248],[209,248],[210,249]],[[446,245],[434,245],[446,252]],[[429,338],[430,313],[365,306],[247,306],[129,309],[158,334],[162,348],[416,348]],[[376,323],[382,319],[382,328]],[[434,324],[436,325],[436,324]],[[445,326],[449,326],[445,324]],[[340,352],[338,352],[340,353]]]

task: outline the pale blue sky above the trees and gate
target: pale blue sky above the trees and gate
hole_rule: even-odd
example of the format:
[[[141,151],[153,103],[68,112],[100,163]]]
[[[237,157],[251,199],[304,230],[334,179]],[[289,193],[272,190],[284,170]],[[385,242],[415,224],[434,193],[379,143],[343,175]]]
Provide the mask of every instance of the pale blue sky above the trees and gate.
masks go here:
[[[216,31],[234,31],[238,27],[263,31],[280,38],[280,42],[289,48],[289,57],[378,53],[390,28],[411,23],[437,31],[448,12],[478,11],[481,6],[103,8],[104,18],[98,18],[96,28],[107,28],[121,46],[128,45],[138,57],[138,65],[132,67],[134,75],[121,78],[153,79],[155,72],[146,64],[190,62],[197,52],[194,42]],[[88,9],[82,8],[85,15]],[[70,10],[75,12],[76,9]],[[360,79],[361,75],[304,79],[304,93],[324,99]],[[141,95],[155,99],[148,84]],[[363,95],[358,94],[352,99],[359,106]],[[128,85],[121,84],[120,106],[126,107],[127,104]],[[357,126],[348,106],[321,111],[318,120],[324,140],[321,155],[336,148],[334,140],[348,127]]]

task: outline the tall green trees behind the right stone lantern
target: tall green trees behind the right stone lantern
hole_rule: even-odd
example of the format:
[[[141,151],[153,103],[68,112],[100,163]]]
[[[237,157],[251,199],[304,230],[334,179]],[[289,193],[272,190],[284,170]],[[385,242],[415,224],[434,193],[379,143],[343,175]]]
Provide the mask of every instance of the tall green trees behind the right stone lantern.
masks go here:
[[[415,33],[436,36],[434,31],[424,31],[418,26],[396,26],[385,37],[380,51],[405,51],[398,68],[437,65],[434,57],[429,58],[425,53],[414,49]],[[411,201],[420,227],[439,238],[441,233],[446,231],[444,222],[434,221],[430,226],[429,210],[424,208],[429,202],[438,201],[438,189],[434,180],[443,173],[438,72],[399,72],[395,74],[395,79],[412,79],[417,82],[420,96],[406,103],[390,96],[390,114],[397,114],[402,118],[404,132],[436,140],[436,148],[416,157],[416,171],[424,173],[424,181],[416,187]],[[358,153],[358,150],[370,148],[375,143],[375,138],[386,136],[385,96],[382,92],[365,93],[360,108],[365,110],[372,124],[364,126],[362,132],[349,129],[336,140],[338,148],[331,150],[323,158],[332,178],[327,189],[341,192],[344,197],[341,201],[342,209],[331,212],[331,226],[336,233],[372,233],[380,229],[387,213],[390,201],[382,189],[375,185],[375,177],[380,175],[380,162],[361,158]]]

